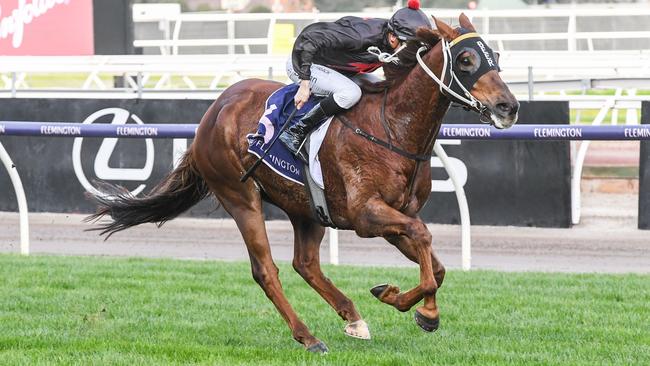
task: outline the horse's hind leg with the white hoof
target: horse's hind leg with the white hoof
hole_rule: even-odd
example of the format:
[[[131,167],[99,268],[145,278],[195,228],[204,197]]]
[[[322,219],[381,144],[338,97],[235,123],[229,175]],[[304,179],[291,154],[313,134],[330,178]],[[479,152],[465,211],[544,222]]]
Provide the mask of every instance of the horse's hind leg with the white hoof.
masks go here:
[[[347,335],[370,339],[368,325],[361,319],[352,300],[336,288],[321,271],[319,249],[325,228],[314,222],[296,218],[292,218],[291,223],[295,236],[293,268],[343,320],[348,322],[345,327]]]

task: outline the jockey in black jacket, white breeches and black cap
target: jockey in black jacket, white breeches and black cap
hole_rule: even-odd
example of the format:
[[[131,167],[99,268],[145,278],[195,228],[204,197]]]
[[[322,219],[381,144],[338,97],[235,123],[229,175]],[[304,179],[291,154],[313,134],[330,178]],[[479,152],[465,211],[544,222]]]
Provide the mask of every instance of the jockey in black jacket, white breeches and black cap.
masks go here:
[[[300,109],[312,93],[325,99],[285,130],[280,140],[299,155],[303,140],[316,124],[352,108],[361,99],[359,79],[371,79],[368,73],[383,62],[396,60],[419,27],[430,29],[431,21],[418,0],[409,0],[390,19],[347,16],[303,29],[287,61],[289,78],[300,84],[294,102]]]

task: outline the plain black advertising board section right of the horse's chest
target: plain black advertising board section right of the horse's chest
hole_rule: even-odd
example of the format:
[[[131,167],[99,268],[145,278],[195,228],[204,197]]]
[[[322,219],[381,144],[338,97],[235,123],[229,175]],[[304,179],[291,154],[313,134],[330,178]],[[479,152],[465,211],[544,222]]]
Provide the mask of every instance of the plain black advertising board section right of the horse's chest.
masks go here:
[[[475,113],[459,108],[450,109],[444,122],[480,123]],[[521,103],[517,124],[568,123],[567,102]],[[473,225],[571,226],[568,141],[466,140],[443,148],[467,168],[465,194]],[[443,168],[433,169],[432,175],[434,182],[448,179]],[[454,193],[433,192],[422,217],[436,223],[460,223]]]

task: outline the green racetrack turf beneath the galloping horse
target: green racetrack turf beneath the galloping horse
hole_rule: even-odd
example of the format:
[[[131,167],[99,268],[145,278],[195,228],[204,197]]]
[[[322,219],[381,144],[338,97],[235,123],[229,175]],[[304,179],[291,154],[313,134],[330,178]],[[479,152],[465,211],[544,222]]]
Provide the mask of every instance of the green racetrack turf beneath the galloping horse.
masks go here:
[[[0,364],[650,364],[650,276],[450,271],[441,328],[421,331],[368,289],[416,268],[331,267],[373,339],[280,265],[289,300],[330,348],[309,354],[248,263],[0,255]]]

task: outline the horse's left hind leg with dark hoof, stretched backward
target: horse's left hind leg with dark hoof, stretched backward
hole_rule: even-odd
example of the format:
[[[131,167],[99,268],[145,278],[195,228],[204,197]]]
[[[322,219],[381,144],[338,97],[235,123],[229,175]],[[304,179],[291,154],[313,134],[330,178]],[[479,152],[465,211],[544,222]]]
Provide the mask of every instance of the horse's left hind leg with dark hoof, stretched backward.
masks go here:
[[[309,351],[327,352],[325,344],[309,332],[284,295],[278,277],[278,268],[271,257],[259,193],[255,191],[251,181],[247,184],[237,182],[233,185],[238,185],[240,189],[229,189],[226,184],[210,183],[224,209],[235,219],[244,238],[255,282],[262,287],[266,296],[287,322],[295,340],[302,343]]]

